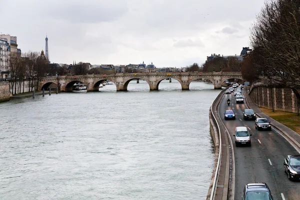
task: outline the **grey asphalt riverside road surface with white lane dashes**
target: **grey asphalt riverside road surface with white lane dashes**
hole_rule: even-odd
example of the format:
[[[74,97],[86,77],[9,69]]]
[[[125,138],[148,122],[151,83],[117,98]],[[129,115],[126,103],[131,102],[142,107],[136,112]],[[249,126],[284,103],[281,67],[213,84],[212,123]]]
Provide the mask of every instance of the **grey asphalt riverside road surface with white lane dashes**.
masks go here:
[[[231,99],[228,106],[226,99]],[[290,181],[283,171],[283,160],[288,154],[299,154],[295,148],[279,133],[270,130],[256,130],[254,120],[244,120],[242,112],[248,108],[246,103],[235,103],[233,93],[224,94],[218,113],[230,133],[234,149],[235,189],[234,199],[241,199],[242,190],[247,182],[266,182],[274,199],[300,199],[300,182]],[[236,113],[235,120],[224,120],[223,113],[232,109]],[[246,126],[251,136],[251,146],[234,144],[236,126]],[[269,160],[270,162],[269,162]],[[271,164],[270,164],[271,163]],[[284,198],[282,198],[283,194]]]

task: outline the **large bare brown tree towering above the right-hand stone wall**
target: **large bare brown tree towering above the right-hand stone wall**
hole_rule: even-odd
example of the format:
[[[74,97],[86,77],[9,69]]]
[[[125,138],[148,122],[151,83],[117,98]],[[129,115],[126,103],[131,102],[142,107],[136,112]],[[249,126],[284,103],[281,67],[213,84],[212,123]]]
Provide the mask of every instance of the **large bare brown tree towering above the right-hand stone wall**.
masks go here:
[[[251,31],[254,66],[300,103],[300,0],[267,0]]]

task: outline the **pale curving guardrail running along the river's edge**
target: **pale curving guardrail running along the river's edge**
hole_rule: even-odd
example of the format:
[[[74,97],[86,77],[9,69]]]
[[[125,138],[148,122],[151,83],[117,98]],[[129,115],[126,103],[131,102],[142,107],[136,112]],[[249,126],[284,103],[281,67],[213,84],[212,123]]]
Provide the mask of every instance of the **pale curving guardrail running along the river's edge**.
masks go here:
[[[228,86],[230,87],[230,86]],[[219,97],[221,95],[223,95],[223,92],[228,88],[224,88],[222,91],[220,91],[220,93],[216,96],[216,98],[214,99],[214,101],[212,102],[211,106],[210,106],[210,110],[211,110],[211,115],[213,116],[213,122],[216,124],[217,129],[218,129],[218,137],[219,137],[219,154],[218,154],[218,159],[217,159],[217,164],[216,164],[216,169],[215,169],[215,174],[214,174],[214,178],[213,178],[213,183],[212,183],[212,188],[211,188],[211,193],[210,193],[210,198],[209,200],[214,200],[215,197],[215,192],[216,192],[216,188],[217,188],[217,181],[218,181],[218,177],[219,177],[219,172],[220,172],[220,164],[221,164],[221,150],[222,150],[222,141],[221,141],[221,131],[220,131],[220,127],[218,125],[218,122],[213,114],[212,111],[212,107],[214,105],[214,103],[216,101],[219,101]]]

